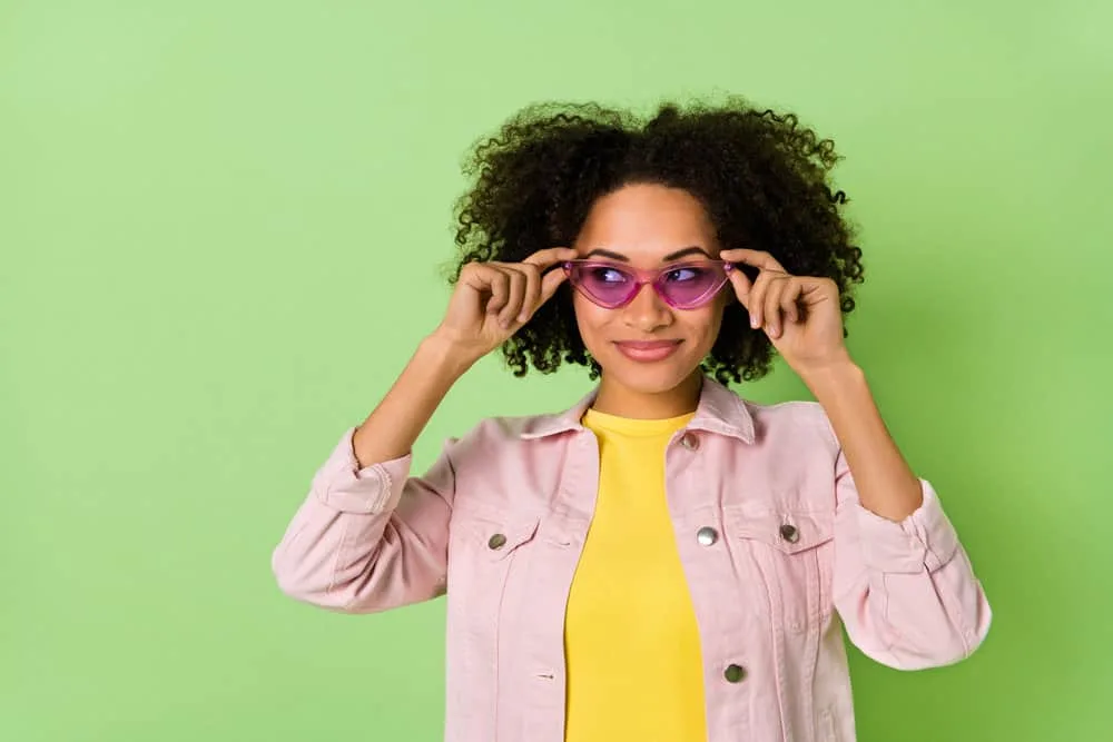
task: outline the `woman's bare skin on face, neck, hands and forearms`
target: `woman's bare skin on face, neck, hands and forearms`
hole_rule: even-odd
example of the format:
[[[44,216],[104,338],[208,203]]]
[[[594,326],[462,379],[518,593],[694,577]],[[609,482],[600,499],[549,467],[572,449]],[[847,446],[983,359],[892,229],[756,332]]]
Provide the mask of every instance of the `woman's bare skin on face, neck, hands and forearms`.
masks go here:
[[[671,253],[700,247],[710,258],[759,269],[752,283],[740,270],[703,307],[676,310],[649,286],[618,309],[575,294],[584,345],[602,367],[595,407],[631,417],[674,417],[696,409],[699,364],[710,352],[728,301],[740,301],[755,329],[765,332],[824,407],[857,485],[860,503],[903,521],[923,502],[918,478],[889,435],[861,369],[843,342],[837,285],[788,274],[764,251],[721,250],[700,202],[686,191],[630,185],[600,198],[574,245],[539,250],[516,264],[469,264],[444,319],[418,345],[410,364],[356,431],[361,466],[407,454],[452,385],[476,360],[520,329],[565,280],[548,270],[563,260],[607,249],[642,268]],[[601,256],[594,256],[601,257]],[[691,256],[690,256],[691,257]],[[698,256],[696,256],[698,257]],[[614,259],[614,256],[610,256]],[[641,364],[614,347],[618,340],[679,339],[668,359]]]

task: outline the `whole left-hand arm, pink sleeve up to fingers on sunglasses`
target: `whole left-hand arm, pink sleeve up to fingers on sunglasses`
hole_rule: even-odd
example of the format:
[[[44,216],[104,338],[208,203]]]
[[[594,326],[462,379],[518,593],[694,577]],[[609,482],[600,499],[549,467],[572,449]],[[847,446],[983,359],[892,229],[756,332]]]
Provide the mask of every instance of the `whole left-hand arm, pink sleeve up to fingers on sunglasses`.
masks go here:
[[[272,557],[290,596],[347,612],[384,611],[444,592],[455,496],[453,443],[422,477],[411,448],[477,359],[529,321],[575,256],[539,250],[520,264],[469,263],[449,309],[367,419],[344,434]]]

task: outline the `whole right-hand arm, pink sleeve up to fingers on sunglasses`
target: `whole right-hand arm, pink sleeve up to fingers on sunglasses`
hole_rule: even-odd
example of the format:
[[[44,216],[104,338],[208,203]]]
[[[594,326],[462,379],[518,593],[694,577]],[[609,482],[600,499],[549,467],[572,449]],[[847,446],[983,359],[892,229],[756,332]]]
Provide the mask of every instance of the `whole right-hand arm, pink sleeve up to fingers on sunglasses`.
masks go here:
[[[827,413],[835,464],[834,601],[850,640],[870,657],[914,670],[956,662],[989,629],[989,605],[930,485],[889,436],[843,342],[833,278],[792,276],[768,253],[722,250],[750,325],[811,389]]]

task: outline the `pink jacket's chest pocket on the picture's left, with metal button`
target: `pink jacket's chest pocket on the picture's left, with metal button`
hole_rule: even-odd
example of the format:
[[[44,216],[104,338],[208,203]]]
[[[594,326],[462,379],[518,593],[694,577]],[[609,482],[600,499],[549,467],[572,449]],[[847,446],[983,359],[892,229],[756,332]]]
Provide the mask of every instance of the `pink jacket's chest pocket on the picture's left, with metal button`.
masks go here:
[[[449,600],[469,625],[490,631],[500,623],[506,587],[525,578],[523,554],[535,540],[536,516],[453,514],[449,532]]]

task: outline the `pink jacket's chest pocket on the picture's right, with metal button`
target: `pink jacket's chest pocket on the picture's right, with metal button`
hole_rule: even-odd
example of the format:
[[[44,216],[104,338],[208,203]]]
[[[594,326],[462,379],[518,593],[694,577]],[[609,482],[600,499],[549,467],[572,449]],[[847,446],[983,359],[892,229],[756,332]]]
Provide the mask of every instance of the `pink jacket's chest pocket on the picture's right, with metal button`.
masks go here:
[[[792,632],[806,632],[831,613],[831,558],[835,514],[792,508],[737,512],[728,523],[739,558],[762,584],[770,619]]]

